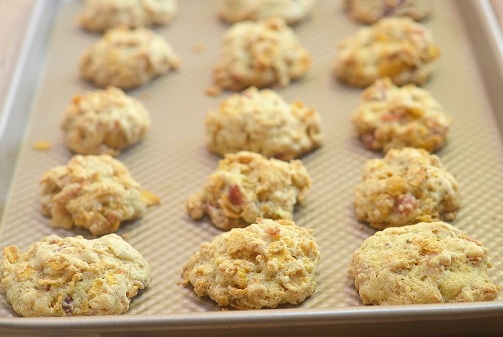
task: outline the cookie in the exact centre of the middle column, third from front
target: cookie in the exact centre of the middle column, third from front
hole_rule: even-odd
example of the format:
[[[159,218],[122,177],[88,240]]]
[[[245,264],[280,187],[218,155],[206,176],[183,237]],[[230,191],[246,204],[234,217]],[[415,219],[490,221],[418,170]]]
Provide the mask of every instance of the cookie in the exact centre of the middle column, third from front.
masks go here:
[[[320,146],[321,118],[301,101],[291,104],[272,90],[251,87],[208,111],[206,134],[211,152],[252,151],[290,160]]]

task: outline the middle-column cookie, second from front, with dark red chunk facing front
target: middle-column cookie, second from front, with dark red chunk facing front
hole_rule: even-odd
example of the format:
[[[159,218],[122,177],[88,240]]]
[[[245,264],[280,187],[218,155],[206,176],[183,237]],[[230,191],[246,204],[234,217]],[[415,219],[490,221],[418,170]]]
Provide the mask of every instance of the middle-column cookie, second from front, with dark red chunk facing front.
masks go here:
[[[216,227],[229,230],[258,217],[291,220],[293,206],[310,187],[311,177],[300,160],[284,162],[241,151],[226,154],[186,206],[192,219],[208,214]]]

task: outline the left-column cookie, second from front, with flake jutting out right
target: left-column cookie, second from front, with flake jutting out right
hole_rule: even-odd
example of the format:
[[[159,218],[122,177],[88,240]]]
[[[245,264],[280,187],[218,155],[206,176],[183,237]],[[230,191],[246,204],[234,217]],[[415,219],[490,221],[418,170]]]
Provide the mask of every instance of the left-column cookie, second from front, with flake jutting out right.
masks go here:
[[[75,155],[67,165],[44,172],[40,185],[42,213],[51,217],[51,226],[83,227],[95,236],[117,231],[122,221],[159,203],[109,155]]]

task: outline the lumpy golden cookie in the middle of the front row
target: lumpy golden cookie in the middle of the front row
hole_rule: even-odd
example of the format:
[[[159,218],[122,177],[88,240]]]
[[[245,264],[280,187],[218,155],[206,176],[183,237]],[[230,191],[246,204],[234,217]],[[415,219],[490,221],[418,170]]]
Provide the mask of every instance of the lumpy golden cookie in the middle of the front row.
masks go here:
[[[312,233],[292,221],[258,218],[203,243],[183,267],[184,284],[222,307],[299,304],[316,289],[320,251]]]

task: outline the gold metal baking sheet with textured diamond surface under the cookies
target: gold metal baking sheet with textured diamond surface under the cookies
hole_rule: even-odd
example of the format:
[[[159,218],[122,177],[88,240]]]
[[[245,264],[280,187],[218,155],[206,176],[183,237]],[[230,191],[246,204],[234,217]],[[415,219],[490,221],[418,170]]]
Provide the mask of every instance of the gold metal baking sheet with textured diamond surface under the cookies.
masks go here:
[[[374,315],[383,321],[393,316],[399,320],[396,310],[363,307],[353,280],[346,275],[353,251],[374,233],[355,218],[353,187],[361,179],[363,163],[381,154],[364,149],[350,123],[361,90],[346,87],[330,74],[338,41],[361,27],[345,15],[340,1],[318,0],[311,19],[295,26],[300,41],[313,55],[313,66],[303,80],[278,90],[287,101],[301,99],[316,106],[323,119],[323,146],[302,158],[313,178],[313,187],[294,214],[299,226],[314,229],[322,253],[316,292],[298,306],[281,306],[284,310],[238,313],[221,312],[208,297],[199,298],[191,287],[178,284],[182,265],[188,257],[201,243],[221,233],[208,218],[194,221],[185,211],[186,197],[201,188],[219,160],[205,147],[206,111],[216,108],[229,95],[210,97],[204,93],[212,84],[211,69],[219,58],[220,38],[227,28],[216,19],[214,5],[212,0],[180,1],[178,17],[156,30],[181,55],[181,69],[129,92],[149,109],[152,126],[145,139],[119,159],[145,190],[160,196],[162,204],[150,207],[142,219],[123,224],[118,234],[125,235],[149,261],[152,282],[133,299],[128,313],[100,317],[95,321],[101,327],[113,326],[124,323],[124,317],[129,317],[129,321],[138,318],[137,326],[153,321],[161,325],[169,322],[172,326],[179,324],[178,329],[183,330],[185,323],[187,329],[198,324],[203,326],[203,321],[213,322],[215,327],[221,319],[233,319],[244,326],[258,317],[264,322],[286,326],[292,321],[306,323],[307,318],[316,317],[313,315],[335,319],[337,315],[349,317],[347,315],[354,312],[358,321],[369,320]],[[477,65],[477,55],[469,40],[469,27],[465,26],[458,5],[455,1],[435,2],[434,15],[425,21],[433,30],[442,55],[433,77],[424,87],[454,118],[448,144],[438,153],[444,165],[457,177],[462,194],[463,205],[452,224],[484,243],[493,265],[490,275],[495,283],[502,285],[501,135]],[[33,105],[25,121],[26,134],[19,152],[14,148],[18,158],[0,224],[1,247],[15,244],[25,249],[50,234],[90,237],[84,230],[49,227],[49,219],[41,215],[38,203],[41,174],[53,166],[66,164],[71,158],[64,146],[59,122],[73,95],[93,89],[80,79],[78,65],[84,50],[100,38],[99,34],[86,32],[75,24],[75,16],[83,8],[82,2],[59,2],[54,8],[54,21],[48,23],[41,17],[38,18],[40,22],[35,22],[52,24],[52,28],[47,43],[35,50],[46,59],[42,80],[36,92],[30,95]],[[204,44],[206,50],[194,52],[197,44]],[[12,128],[19,126],[11,123],[12,132]],[[6,139],[5,135],[0,137]],[[53,148],[48,152],[33,149],[33,143],[40,139],[49,140]],[[12,151],[7,148],[4,153]],[[2,193],[6,196],[6,191]],[[495,301],[485,304],[403,306],[400,310],[407,314],[404,319],[418,310],[423,315],[435,312],[443,318],[452,318],[456,313],[473,316],[490,312],[492,315],[494,310],[503,308],[501,299],[503,294],[500,293]],[[197,313],[200,315],[195,316]],[[0,327],[28,323],[50,326],[51,322],[58,322],[26,318],[7,321],[17,316],[0,292]],[[66,322],[75,322],[68,326],[71,330],[79,322],[91,321],[72,317]],[[56,328],[58,324],[54,324]]]

